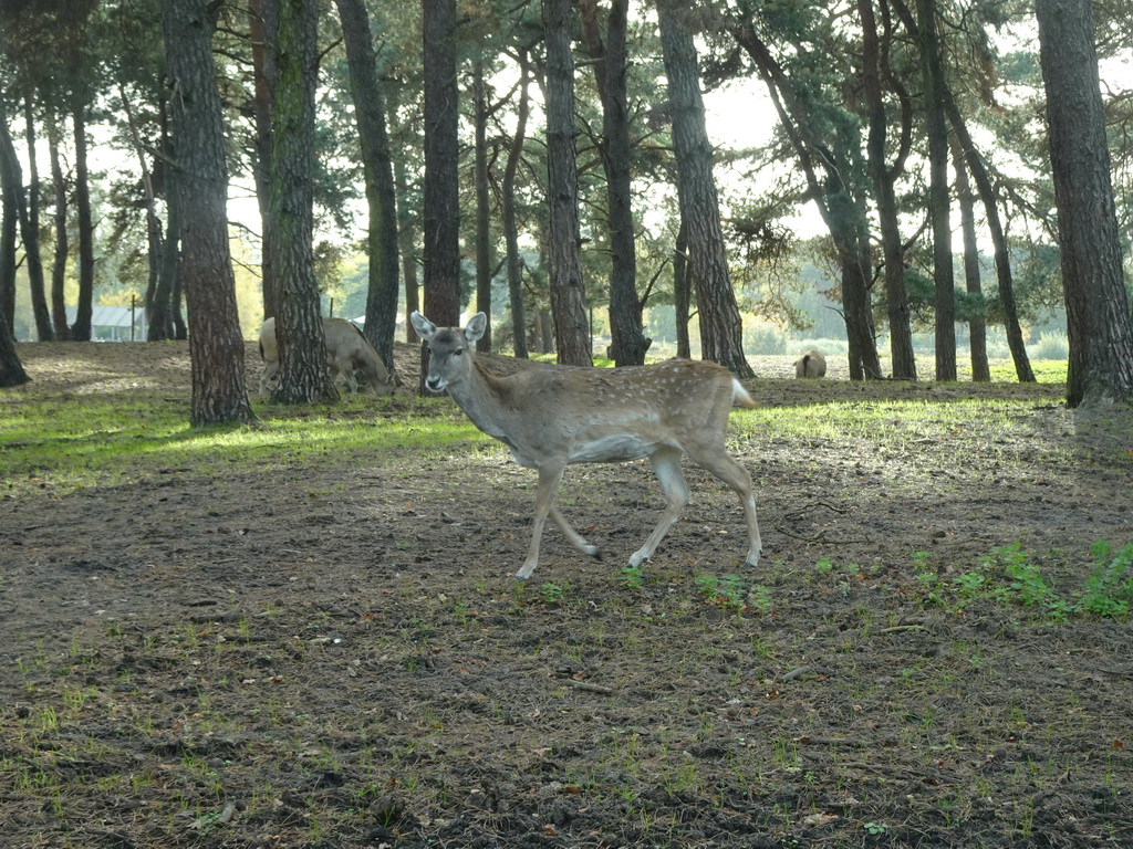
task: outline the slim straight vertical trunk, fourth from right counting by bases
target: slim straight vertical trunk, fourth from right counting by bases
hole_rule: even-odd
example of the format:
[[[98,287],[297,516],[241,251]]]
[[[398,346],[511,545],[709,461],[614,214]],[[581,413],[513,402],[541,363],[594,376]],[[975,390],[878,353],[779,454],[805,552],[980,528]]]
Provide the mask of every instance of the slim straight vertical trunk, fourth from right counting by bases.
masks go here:
[[[932,225],[932,282],[936,286],[936,379],[956,379],[956,293],[948,223],[948,125],[944,117],[944,68],[936,23],[936,0],[917,0],[925,72],[925,126],[928,136],[928,214]]]

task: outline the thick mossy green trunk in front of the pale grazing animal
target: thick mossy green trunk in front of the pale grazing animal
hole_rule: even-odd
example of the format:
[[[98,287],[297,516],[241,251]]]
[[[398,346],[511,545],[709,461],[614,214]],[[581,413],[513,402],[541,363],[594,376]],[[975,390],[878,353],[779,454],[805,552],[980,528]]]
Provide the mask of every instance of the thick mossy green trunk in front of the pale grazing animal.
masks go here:
[[[272,401],[337,401],[326,367],[314,256],[318,0],[279,0],[279,78],[272,102],[271,221],[279,238],[280,377]]]

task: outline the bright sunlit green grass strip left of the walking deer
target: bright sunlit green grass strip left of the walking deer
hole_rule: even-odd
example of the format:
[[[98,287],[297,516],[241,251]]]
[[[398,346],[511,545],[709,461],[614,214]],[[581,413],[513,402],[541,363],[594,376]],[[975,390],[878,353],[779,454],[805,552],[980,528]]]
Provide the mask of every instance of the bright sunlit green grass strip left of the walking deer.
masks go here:
[[[272,406],[257,427],[214,428],[190,428],[179,401],[122,398],[10,404],[0,419],[0,478],[9,491],[51,488],[65,495],[170,470],[216,474],[249,462],[270,471],[398,451],[445,453],[469,440],[499,451],[451,402],[433,398],[415,401],[395,417],[341,405]]]

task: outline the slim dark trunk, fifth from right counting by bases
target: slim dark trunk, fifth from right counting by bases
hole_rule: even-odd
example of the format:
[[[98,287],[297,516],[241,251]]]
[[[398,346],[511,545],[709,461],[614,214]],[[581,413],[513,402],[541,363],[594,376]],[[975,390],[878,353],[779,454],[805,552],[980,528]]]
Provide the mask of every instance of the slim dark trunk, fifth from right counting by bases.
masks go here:
[[[917,379],[917,359],[909,320],[909,294],[905,291],[905,261],[897,223],[897,199],[893,188],[902,169],[885,164],[887,120],[881,93],[881,42],[877,34],[874,0],[858,0],[862,24],[862,87],[869,112],[867,154],[869,174],[877,196],[877,217],[881,231],[881,251],[885,259],[885,299],[889,319],[889,354],[893,377],[897,380]],[[888,35],[888,33],[887,33]],[[888,49],[886,38],[886,50]]]

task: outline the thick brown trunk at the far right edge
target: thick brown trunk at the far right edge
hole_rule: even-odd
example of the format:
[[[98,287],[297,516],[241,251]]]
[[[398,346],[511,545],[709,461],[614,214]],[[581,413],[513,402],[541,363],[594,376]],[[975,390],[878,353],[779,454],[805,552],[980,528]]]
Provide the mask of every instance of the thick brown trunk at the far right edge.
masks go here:
[[[1133,401],[1133,318],[1110,182],[1090,0],[1036,0],[1058,206],[1070,406]]]

